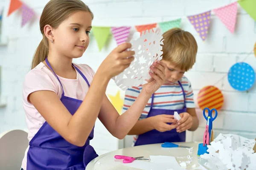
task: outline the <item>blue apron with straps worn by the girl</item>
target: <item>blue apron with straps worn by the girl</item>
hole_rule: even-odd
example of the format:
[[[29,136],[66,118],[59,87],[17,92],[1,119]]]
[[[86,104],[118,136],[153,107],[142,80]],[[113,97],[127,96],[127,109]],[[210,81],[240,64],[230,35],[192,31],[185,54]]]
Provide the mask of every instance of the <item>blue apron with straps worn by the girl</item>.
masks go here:
[[[52,72],[55,74],[47,58],[46,62],[49,68],[51,68]],[[73,66],[76,68],[79,74],[81,74],[81,76],[90,87],[90,84],[84,74],[82,74],[75,65]],[[61,81],[56,74],[55,77],[61,84]],[[73,115],[81,105],[82,100],[64,96],[65,94],[62,84],[61,88],[61,102],[70,112],[70,114]],[[45,122],[29,142],[26,169],[84,170],[86,165],[98,156],[93,147],[90,146],[91,139],[93,139],[93,130],[91,131],[84,146],[78,147],[67,142],[58,132],[56,132],[47,122]]]

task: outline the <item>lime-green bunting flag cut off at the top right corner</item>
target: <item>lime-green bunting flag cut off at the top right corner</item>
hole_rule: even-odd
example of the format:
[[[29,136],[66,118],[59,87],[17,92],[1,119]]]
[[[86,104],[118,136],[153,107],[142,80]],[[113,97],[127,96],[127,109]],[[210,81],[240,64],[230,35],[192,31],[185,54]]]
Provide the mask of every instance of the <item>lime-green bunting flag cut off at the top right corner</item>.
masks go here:
[[[256,0],[238,0],[238,3],[256,21]]]

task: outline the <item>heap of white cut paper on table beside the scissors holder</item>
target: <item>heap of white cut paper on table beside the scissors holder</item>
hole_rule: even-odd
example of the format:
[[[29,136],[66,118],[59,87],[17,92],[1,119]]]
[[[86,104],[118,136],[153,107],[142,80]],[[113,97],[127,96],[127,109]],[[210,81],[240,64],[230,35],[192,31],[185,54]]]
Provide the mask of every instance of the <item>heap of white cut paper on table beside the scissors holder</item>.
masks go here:
[[[209,154],[205,153],[201,158],[208,161],[206,166],[209,169],[256,170],[256,153],[249,148],[251,144],[251,139],[242,136],[220,134],[207,146]]]

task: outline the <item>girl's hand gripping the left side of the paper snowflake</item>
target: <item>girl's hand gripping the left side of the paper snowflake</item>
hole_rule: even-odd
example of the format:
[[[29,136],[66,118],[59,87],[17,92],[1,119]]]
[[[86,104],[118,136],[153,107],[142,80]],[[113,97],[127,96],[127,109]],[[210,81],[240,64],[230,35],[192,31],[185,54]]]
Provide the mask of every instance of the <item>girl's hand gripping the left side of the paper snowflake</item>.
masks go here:
[[[131,48],[131,43],[125,42],[117,46],[113,51],[104,59],[99,66],[99,72],[111,79],[116,75],[122,73],[125,68],[128,68],[131,62],[134,60],[134,51],[126,51],[127,48]]]

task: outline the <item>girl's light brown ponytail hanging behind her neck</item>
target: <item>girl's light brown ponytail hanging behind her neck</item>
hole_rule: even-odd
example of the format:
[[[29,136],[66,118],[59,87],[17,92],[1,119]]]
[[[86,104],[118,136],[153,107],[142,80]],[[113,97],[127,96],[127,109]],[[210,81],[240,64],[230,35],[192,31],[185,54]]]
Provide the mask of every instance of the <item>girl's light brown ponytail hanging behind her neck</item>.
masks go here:
[[[41,40],[38,48],[35,51],[31,69],[35,68],[40,62],[44,61],[49,52],[49,45],[47,37],[43,34],[43,39]]]

